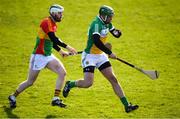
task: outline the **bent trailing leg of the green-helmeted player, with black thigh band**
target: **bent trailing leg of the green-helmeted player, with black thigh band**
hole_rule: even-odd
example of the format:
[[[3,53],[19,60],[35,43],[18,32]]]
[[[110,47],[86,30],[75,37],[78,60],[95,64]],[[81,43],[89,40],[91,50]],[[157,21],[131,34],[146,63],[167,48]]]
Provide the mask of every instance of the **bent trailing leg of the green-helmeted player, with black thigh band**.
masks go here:
[[[92,86],[94,81],[94,66],[85,67],[84,70],[84,79],[75,80],[75,81],[67,81],[64,89],[63,89],[63,96],[67,97],[69,94],[70,89],[73,87],[79,88],[89,88]]]

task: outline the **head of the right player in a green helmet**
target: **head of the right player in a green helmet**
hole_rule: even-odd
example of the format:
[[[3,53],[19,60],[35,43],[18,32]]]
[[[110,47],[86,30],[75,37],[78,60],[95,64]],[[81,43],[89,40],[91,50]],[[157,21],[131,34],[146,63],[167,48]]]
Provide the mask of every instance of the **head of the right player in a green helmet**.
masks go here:
[[[111,22],[111,20],[109,19],[112,19],[112,17],[114,16],[114,10],[107,5],[103,5],[99,9],[99,15],[105,23],[109,23]]]

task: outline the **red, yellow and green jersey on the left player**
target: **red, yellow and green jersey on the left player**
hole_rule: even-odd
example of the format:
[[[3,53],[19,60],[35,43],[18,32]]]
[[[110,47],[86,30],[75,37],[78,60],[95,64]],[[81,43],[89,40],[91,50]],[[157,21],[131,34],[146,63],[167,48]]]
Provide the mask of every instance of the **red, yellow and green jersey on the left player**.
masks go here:
[[[50,40],[48,33],[56,32],[56,30],[57,25],[50,17],[44,18],[41,21],[33,54],[51,55],[53,42]]]

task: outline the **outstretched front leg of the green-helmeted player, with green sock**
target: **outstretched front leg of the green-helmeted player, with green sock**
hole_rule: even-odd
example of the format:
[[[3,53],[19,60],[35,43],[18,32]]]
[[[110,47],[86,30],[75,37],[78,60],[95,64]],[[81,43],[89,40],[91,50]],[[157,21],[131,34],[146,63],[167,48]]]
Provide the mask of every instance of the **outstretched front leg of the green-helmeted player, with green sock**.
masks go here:
[[[108,81],[111,83],[115,94],[119,97],[119,99],[123,103],[123,105],[125,107],[125,111],[128,113],[132,110],[137,109],[138,105],[131,105],[127,101],[127,98],[125,97],[123,89],[122,89],[121,85],[118,83],[115,74],[113,73],[113,69],[111,67],[110,62],[105,62],[104,64],[102,64],[99,67],[99,70],[101,71],[103,76],[106,77],[106,79],[108,79]]]

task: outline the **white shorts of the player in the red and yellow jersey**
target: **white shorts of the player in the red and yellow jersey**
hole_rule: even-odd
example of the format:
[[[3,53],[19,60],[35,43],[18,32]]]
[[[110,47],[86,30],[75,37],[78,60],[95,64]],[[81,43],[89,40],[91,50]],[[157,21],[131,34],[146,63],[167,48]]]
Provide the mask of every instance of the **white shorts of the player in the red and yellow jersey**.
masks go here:
[[[54,60],[57,59],[53,54],[50,56],[44,56],[41,54],[32,54],[30,58],[30,68],[33,70],[41,70],[46,67],[46,65]]]

